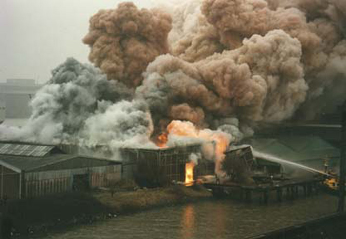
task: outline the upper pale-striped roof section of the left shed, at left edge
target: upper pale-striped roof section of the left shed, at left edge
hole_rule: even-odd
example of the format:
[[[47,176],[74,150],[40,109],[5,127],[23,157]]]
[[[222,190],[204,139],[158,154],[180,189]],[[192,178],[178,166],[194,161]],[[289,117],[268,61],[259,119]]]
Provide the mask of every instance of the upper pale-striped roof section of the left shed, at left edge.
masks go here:
[[[54,146],[47,145],[0,143],[0,154],[44,157],[49,154],[53,148]]]

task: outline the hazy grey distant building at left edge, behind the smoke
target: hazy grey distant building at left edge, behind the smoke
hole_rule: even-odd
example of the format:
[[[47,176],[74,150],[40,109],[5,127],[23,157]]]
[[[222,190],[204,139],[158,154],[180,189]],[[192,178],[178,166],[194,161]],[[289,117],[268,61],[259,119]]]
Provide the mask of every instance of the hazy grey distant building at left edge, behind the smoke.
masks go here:
[[[29,102],[41,87],[33,79],[8,79],[0,83],[0,102],[5,104],[6,118],[29,118]]]

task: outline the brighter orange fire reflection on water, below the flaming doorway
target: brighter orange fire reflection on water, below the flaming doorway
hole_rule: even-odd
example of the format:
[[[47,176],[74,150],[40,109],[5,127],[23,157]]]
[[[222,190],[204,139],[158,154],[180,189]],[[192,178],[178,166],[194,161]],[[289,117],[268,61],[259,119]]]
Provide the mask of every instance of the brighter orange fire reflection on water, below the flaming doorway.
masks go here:
[[[195,210],[193,204],[188,204],[183,210],[181,222],[181,238],[191,239],[195,234]]]

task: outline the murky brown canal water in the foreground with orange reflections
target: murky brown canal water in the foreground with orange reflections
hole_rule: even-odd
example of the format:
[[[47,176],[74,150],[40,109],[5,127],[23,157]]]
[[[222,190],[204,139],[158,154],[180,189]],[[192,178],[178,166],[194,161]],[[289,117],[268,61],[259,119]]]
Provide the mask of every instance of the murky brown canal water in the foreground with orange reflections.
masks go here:
[[[51,233],[44,239],[244,239],[317,219],[336,209],[337,198],[325,194],[267,206],[211,199],[119,216]]]

